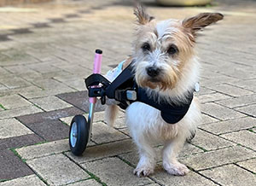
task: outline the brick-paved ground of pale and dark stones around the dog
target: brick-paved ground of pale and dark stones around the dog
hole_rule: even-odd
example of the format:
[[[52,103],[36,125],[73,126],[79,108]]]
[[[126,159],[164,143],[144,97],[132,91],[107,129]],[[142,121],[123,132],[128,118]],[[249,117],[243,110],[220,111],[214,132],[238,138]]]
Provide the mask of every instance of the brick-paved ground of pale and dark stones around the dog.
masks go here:
[[[103,73],[131,54],[131,1],[57,2],[0,9],[0,186],[256,183],[256,1],[207,8],[146,2],[159,19],[205,11],[225,19],[198,41],[203,124],[179,157],[189,175],[173,177],[159,166],[142,178],[132,175],[138,157],[124,114],[110,129],[96,113],[82,157],[70,153],[67,140],[72,117],[88,112],[83,78],[94,50],[103,49]]]

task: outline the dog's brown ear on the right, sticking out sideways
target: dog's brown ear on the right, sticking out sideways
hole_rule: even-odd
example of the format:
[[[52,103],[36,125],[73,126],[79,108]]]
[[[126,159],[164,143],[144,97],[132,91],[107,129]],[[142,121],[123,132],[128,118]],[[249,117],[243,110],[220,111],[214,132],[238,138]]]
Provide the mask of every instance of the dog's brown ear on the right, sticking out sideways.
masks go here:
[[[220,13],[201,13],[183,20],[183,26],[189,29],[189,31],[195,36],[197,31],[200,31],[202,28],[209,26],[218,20],[222,20],[223,18],[224,15]]]

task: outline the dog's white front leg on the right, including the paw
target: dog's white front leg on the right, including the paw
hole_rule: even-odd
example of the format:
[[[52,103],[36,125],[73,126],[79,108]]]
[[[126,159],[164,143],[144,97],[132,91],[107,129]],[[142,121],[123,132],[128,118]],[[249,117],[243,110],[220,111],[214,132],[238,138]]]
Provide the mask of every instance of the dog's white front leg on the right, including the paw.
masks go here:
[[[184,137],[175,137],[172,141],[165,143],[163,148],[163,166],[172,175],[184,176],[189,173],[187,166],[177,161],[177,153],[183,147]]]

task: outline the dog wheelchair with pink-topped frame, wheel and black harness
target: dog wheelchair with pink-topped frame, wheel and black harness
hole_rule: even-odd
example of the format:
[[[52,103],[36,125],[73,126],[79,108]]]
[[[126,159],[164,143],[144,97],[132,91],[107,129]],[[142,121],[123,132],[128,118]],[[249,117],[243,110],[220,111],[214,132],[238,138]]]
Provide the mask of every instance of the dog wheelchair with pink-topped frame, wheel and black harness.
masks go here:
[[[181,105],[170,104],[168,102],[155,102],[154,98],[147,94],[146,88],[139,87],[135,82],[133,66],[126,67],[118,77],[110,82],[102,76],[102,50],[96,49],[93,74],[85,78],[86,88],[88,89],[90,108],[89,116],[86,120],[83,115],[73,117],[69,131],[69,147],[71,152],[77,156],[84,153],[87,143],[90,142],[90,135],[93,123],[93,115],[97,97],[100,98],[102,105],[106,104],[106,99],[113,99],[118,102],[119,108],[125,109],[132,102],[143,102],[153,108],[160,110],[161,117],[168,124],[175,124],[183,119],[188,112],[190,103],[193,99],[193,92],[189,93],[188,102]],[[107,98],[106,98],[107,97]],[[192,138],[195,135],[192,135]]]

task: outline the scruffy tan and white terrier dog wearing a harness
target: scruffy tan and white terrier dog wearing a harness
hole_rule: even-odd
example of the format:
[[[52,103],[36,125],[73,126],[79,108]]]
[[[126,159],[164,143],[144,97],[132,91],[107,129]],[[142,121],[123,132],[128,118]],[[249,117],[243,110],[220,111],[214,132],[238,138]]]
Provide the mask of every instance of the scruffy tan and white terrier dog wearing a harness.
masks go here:
[[[155,102],[170,104],[187,102],[188,93],[195,90],[199,81],[200,64],[195,55],[196,33],[203,27],[223,19],[218,13],[202,13],[185,20],[157,21],[138,5],[136,40],[131,56],[138,86],[146,88]],[[123,65],[127,66],[131,60]],[[119,108],[106,109],[107,122],[113,125]],[[162,162],[172,175],[183,176],[187,166],[177,161],[177,153],[201,122],[199,102],[193,98],[188,112],[176,124],[162,119],[160,110],[142,102],[133,102],[126,109],[126,123],[133,141],[137,144],[140,160],[134,174],[148,176],[154,172],[155,153],[152,142],[163,142]]]

